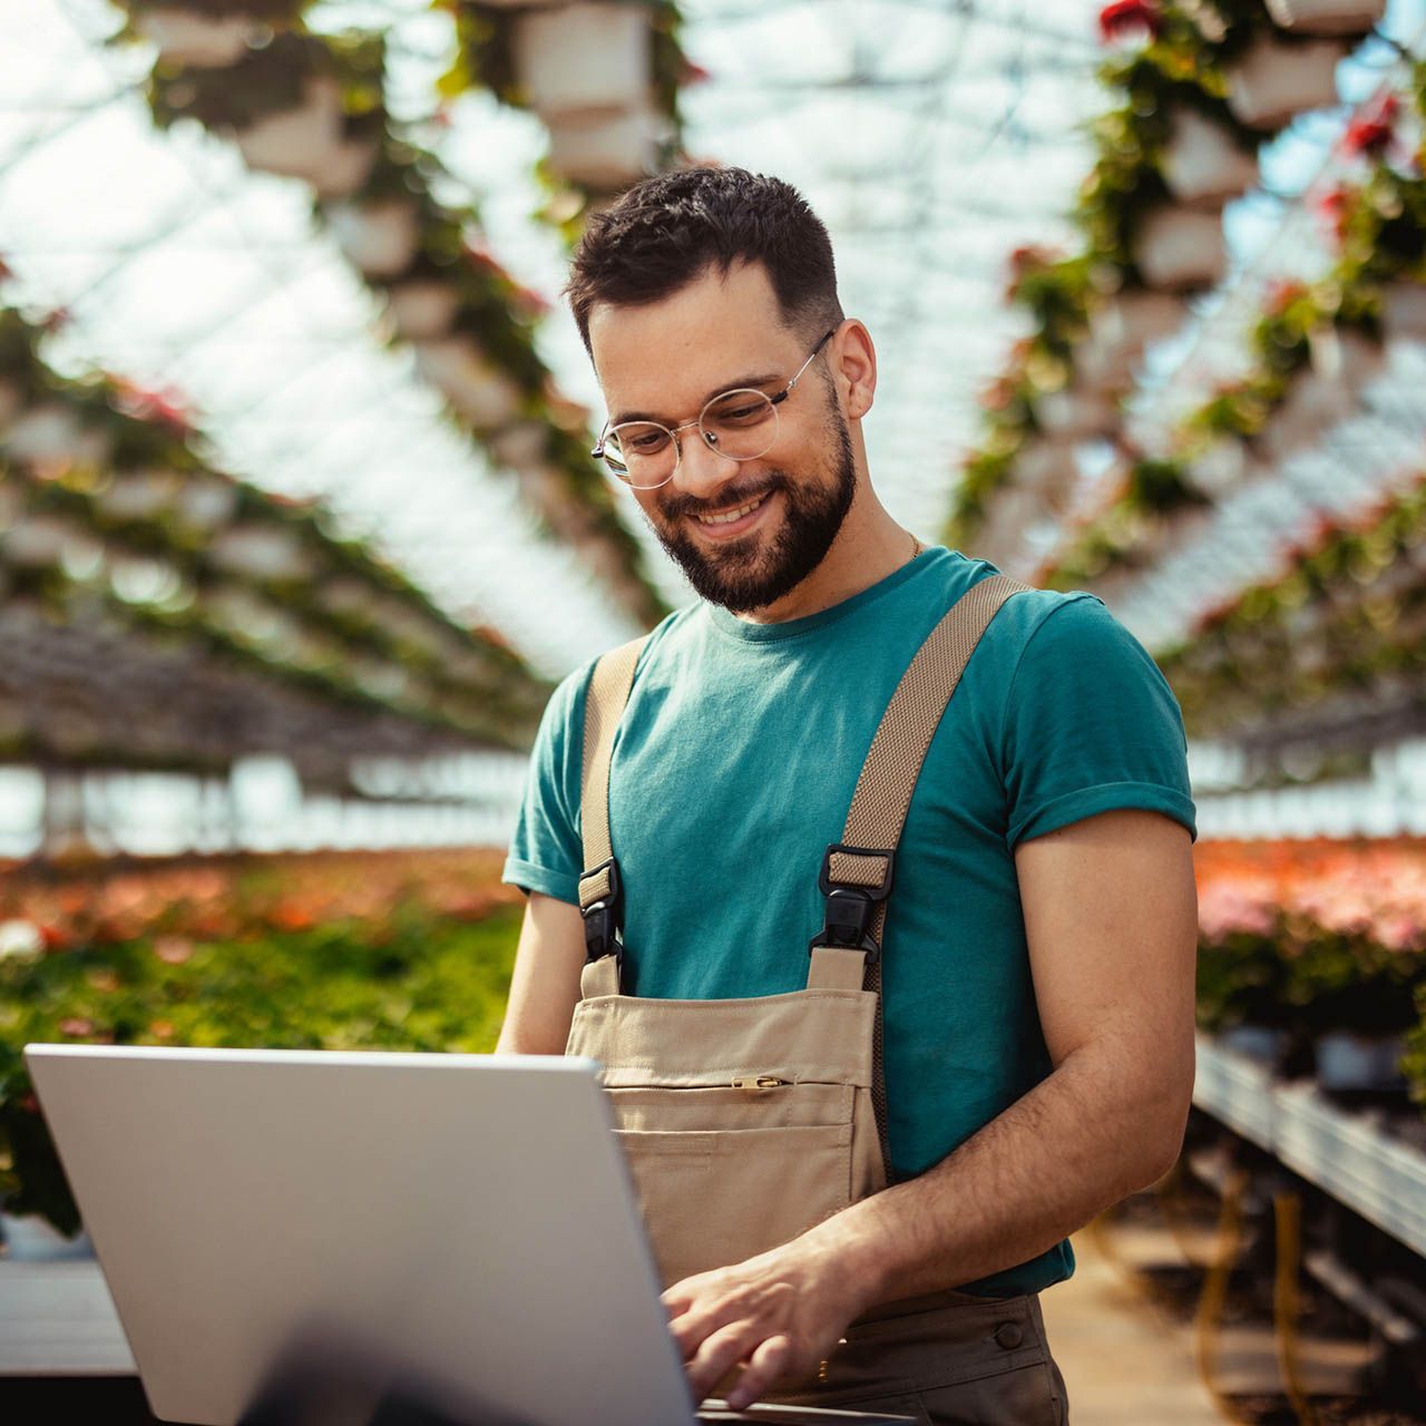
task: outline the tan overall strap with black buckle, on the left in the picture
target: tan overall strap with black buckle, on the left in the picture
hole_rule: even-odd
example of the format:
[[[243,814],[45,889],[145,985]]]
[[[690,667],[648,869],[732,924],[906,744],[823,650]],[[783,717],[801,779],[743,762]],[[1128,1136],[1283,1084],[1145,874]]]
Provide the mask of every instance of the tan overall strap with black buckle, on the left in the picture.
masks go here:
[[[623,945],[623,886],[609,838],[609,761],[615,729],[629,702],[633,670],[649,635],[630,639],[599,657],[585,694],[585,749],[580,770],[579,823],[585,871],[579,878],[579,914],[585,918],[585,971],[589,995],[619,991]]]

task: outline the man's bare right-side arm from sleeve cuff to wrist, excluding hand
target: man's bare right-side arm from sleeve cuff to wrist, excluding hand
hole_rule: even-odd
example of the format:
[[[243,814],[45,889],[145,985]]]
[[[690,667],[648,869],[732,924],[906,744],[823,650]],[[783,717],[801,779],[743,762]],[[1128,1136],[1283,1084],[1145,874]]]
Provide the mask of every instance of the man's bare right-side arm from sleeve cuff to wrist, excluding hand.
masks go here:
[[[1015,870],[1055,1070],[925,1175],[840,1215],[883,1299],[1045,1252],[1166,1174],[1184,1142],[1198,945],[1188,830],[1108,811],[1021,843]]]

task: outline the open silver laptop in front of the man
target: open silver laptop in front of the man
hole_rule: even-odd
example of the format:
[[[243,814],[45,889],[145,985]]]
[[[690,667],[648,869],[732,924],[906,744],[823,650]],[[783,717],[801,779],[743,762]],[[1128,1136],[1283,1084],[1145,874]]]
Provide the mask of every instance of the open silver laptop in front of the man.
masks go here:
[[[305,1340],[369,1343],[482,1422],[914,1420],[692,1400],[593,1060],[24,1057],[164,1420],[252,1420]]]

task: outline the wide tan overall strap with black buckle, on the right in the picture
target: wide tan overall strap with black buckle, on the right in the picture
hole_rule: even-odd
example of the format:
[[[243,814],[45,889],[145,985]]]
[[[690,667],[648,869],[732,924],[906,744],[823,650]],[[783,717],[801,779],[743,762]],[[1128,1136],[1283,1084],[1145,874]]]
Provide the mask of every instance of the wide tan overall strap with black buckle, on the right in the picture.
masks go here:
[[[848,958],[856,955],[861,963],[861,988],[877,992],[871,1097],[887,1182],[893,1174],[881,1068],[881,931],[896,848],[925,753],[970,656],[1000,606],[1011,595],[1032,588],[1010,575],[981,579],[927,635],[881,714],[851,794],[841,841],[827,848],[821,864],[819,886],[826,897],[826,924],[809,947],[807,985],[848,984]]]

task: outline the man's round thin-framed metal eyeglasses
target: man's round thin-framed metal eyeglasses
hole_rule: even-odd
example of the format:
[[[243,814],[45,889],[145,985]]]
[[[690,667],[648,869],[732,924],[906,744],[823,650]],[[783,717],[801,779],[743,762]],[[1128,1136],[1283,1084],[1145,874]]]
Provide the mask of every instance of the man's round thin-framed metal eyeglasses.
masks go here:
[[[620,481],[636,491],[652,491],[673,479],[683,456],[679,432],[689,426],[697,426],[703,443],[729,461],[756,461],[767,455],[777,441],[777,408],[791,395],[813,356],[836,331],[834,327],[813,347],[793,379],[771,396],[756,386],[739,386],[714,396],[699,412],[697,421],[686,421],[682,426],[662,426],[657,421],[606,425],[589,453],[602,458]]]

